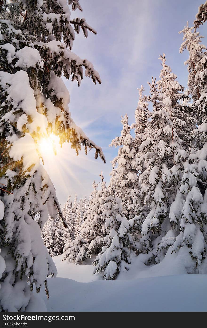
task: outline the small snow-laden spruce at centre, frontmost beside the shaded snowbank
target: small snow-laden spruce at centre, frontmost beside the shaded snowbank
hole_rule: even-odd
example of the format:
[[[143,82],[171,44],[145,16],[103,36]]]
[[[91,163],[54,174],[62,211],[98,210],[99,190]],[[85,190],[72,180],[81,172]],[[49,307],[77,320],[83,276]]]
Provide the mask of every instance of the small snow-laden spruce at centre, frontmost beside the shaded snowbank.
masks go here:
[[[122,213],[122,200],[115,196],[114,189],[107,189],[107,197],[101,205],[101,217],[106,236],[103,240],[101,252],[96,256],[93,264],[94,273],[104,272],[104,279],[116,279],[120,265],[130,263],[132,238],[130,228],[134,219],[128,219]]]

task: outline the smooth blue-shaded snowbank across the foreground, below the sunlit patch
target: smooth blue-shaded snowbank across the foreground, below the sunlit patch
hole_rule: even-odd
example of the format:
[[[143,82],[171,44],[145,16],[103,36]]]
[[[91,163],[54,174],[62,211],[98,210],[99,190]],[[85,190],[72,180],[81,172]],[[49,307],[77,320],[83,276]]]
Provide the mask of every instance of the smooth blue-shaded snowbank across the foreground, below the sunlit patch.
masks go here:
[[[41,291],[47,311],[207,311],[207,275],[90,283],[47,280],[49,300]]]

